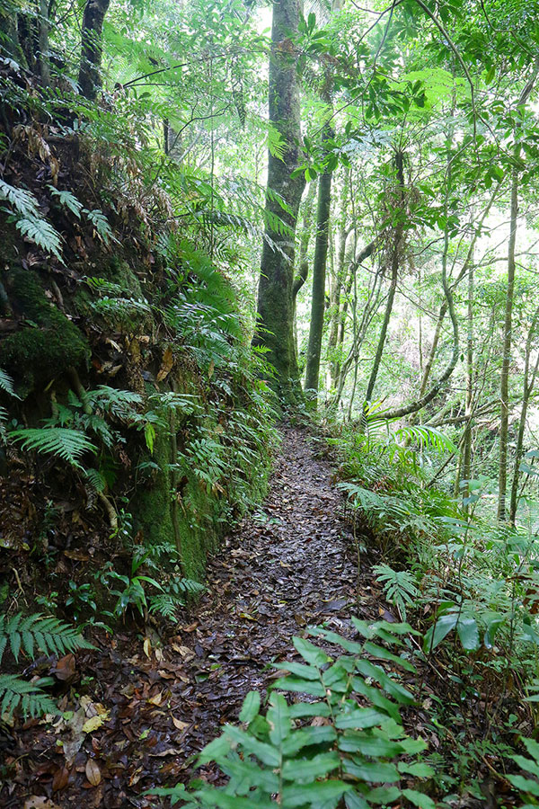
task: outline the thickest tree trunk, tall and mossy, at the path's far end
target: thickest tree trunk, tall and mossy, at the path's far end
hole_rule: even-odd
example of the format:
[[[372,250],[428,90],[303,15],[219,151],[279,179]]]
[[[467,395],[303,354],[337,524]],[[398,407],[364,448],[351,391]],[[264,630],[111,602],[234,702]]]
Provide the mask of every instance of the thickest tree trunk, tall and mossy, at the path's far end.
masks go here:
[[[274,387],[284,401],[301,396],[296,345],[294,342],[294,300],[292,293],[296,220],[305,187],[302,175],[291,173],[300,162],[301,120],[297,55],[294,37],[299,22],[299,0],[276,0],[271,26],[270,123],[278,129],[284,145],[282,159],[268,157],[268,189],[266,197],[266,236],[262,246],[261,280],[258,290],[259,330],[253,345],[267,349],[276,377]],[[283,210],[275,198],[277,193],[287,204]],[[286,233],[274,229],[275,219],[287,226]],[[270,246],[272,242],[275,246]]]

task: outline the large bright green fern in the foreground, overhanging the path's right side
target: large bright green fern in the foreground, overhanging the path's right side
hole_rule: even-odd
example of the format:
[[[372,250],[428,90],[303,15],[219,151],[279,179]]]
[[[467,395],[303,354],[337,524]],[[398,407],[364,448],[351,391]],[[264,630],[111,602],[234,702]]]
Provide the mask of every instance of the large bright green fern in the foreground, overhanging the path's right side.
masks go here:
[[[402,778],[429,778],[433,770],[418,757],[422,739],[404,733],[400,706],[413,696],[372,659],[415,671],[408,660],[407,624],[384,621],[370,626],[354,619],[365,642],[348,640],[316,627],[324,646],[343,654],[332,658],[305,638],[293,639],[303,662],[283,662],[285,672],[273,684],[267,711],[250,692],[243,702],[241,726],[226,725],[199,756],[199,764],[216,762],[228,778],[225,787],[199,783],[152,790],[172,804],[221,809],[368,809],[406,799],[420,809],[434,801],[417,789],[402,787]],[[376,642],[374,642],[376,640]],[[389,647],[396,647],[393,653]],[[370,658],[370,659],[369,659]],[[289,704],[284,691],[296,701]],[[298,695],[307,695],[299,697]]]

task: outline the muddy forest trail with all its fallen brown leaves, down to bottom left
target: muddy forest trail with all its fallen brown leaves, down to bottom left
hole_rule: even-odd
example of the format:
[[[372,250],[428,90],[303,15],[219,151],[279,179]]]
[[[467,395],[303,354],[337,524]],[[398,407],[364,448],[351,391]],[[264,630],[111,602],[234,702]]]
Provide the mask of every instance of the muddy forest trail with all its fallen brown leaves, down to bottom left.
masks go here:
[[[157,805],[145,791],[190,778],[194,756],[237,718],[246,692],[277,676],[267,664],[295,655],[292,636],[320,623],[346,633],[358,585],[373,612],[318,449],[305,431],[283,431],[265,502],[225,539],[208,593],[164,645],[151,634],[146,653],[142,637],[104,640],[99,653],[77,654],[54,725],[0,729],[0,806]]]

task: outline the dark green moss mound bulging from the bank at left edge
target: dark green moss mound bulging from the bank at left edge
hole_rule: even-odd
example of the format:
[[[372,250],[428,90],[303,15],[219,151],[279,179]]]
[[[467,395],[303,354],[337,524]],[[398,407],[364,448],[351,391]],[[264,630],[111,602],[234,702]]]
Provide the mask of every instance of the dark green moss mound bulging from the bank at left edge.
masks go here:
[[[34,272],[10,272],[4,286],[25,323],[0,342],[0,367],[13,376],[19,395],[28,396],[69,367],[80,367],[91,351],[75,324],[45,297]]]

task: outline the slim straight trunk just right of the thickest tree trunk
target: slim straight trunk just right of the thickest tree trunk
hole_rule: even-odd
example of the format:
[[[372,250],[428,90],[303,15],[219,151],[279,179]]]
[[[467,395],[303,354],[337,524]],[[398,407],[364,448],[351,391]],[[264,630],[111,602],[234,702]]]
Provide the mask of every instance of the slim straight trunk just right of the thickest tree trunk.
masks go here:
[[[332,137],[329,126],[324,127],[324,139]],[[322,352],[323,316],[325,311],[325,277],[328,255],[328,234],[331,209],[331,174],[324,170],[318,182],[318,205],[316,208],[316,241],[313,262],[313,298],[311,302],[311,326],[305,369],[305,391],[313,391],[313,404],[320,382],[320,355]]]

